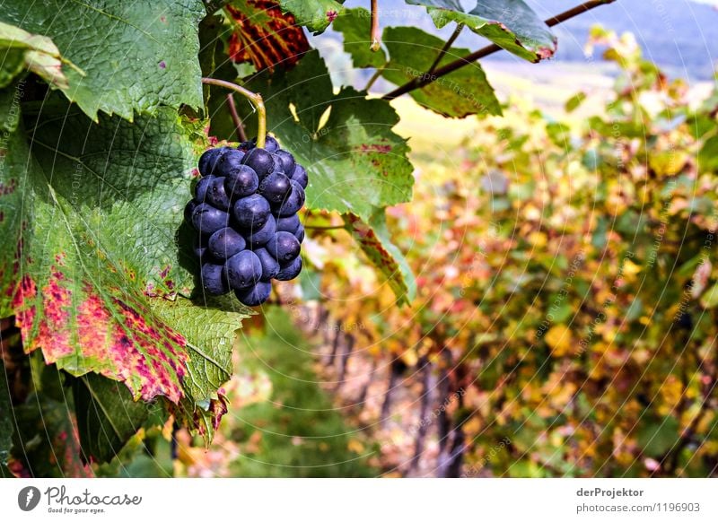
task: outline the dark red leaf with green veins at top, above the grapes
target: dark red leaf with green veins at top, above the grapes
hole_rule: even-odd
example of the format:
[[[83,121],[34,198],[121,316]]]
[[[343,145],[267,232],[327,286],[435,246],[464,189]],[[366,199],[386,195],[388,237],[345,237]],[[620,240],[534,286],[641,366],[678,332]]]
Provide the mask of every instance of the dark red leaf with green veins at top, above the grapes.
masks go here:
[[[228,54],[238,64],[251,62],[258,71],[274,70],[276,65],[296,64],[310,48],[302,27],[276,2],[248,0],[242,9],[228,5],[227,11],[235,22]]]

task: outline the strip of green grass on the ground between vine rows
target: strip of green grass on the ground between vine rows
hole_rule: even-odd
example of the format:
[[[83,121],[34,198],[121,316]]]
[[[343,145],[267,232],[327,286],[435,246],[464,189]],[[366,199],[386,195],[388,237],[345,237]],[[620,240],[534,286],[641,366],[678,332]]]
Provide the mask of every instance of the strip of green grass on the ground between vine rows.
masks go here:
[[[265,333],[241,339],[242,365],[267,373],[272,396],[238,413],[229,437],[241,456],[231,465],[242,477],[368,477],[372,449],[333,409],[313,370],[311,342],[279,308],[266,312]]]

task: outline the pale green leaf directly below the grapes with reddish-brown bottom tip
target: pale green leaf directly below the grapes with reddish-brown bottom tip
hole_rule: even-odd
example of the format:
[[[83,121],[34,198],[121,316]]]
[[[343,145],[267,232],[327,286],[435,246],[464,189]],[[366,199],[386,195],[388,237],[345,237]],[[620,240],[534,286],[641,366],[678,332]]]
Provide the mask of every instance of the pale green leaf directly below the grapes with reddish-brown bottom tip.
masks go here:
[[[228,301],[228,302],[225,302]],[[232,307],[232,311],[226,311]],[[186,396],[173,409],[180,420],[209,443],[227,412],[223,385],[232,377],[232,344],[241,320],[254,312],[234,300],[213,299],[204,304],[186,299],[154,301],[154,311],[187,339]]]

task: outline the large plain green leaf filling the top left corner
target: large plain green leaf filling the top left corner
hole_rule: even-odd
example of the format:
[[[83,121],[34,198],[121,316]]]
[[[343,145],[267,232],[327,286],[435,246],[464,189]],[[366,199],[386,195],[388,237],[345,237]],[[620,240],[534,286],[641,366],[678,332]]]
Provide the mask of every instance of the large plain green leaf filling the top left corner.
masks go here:
[[[0,21],[51,38],[63,57],[69,100],[97,119],[98,111],[132,119],[135,110],[202,105],[197,23],[199,0],[3,3]]]

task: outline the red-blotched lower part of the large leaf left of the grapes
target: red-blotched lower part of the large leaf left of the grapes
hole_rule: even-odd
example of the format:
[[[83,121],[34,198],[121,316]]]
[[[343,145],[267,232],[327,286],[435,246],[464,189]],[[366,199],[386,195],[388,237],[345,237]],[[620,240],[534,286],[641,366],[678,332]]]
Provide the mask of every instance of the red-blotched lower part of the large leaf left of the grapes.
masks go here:
[[[121,380],[135,398],[177,403],[187,373],[185,339],[155,318],[150,324],[151,312],[139,303],[111,298],[110,309],[90,284],[73,293],[71,283],[58,265],[39,292],[23,277],[13,306],[25,351],[40,349],[48,364],[75,375],[94,370]]]

